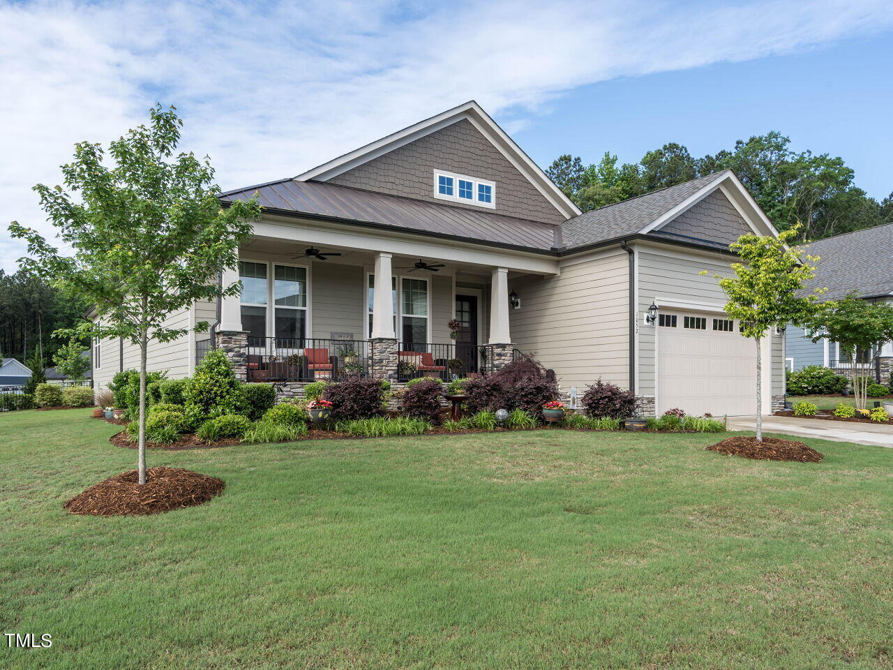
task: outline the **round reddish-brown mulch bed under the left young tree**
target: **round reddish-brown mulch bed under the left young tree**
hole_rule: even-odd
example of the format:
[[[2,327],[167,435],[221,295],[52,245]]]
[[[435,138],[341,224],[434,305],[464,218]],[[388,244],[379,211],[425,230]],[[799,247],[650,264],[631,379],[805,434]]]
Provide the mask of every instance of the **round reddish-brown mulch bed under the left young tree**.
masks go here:
[[[163,466],[146,470],[146,483],[142,486],[137,482],[136,470],[116,474],[79,493],[63,507],[75,515],[154,515],[201,505],[226,486],[216,477]]]

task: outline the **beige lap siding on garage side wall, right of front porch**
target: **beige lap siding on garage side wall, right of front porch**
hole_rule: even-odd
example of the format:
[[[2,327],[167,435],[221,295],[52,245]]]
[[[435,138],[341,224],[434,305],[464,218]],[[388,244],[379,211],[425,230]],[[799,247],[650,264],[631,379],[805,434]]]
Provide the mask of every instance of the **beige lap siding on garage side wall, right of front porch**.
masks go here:
[[[562,389],[601,377],[629,385],[629,261],[622,250],[569,261],[552,278],[509,281],[522,300],[510,310],[514,345],[555,370]]]

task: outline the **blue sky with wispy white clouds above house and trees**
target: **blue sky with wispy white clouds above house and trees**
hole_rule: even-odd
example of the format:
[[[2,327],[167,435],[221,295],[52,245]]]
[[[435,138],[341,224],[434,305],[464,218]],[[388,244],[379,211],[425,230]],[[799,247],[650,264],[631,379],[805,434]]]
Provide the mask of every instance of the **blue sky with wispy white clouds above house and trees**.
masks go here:
[[[780,130],[893,191],[889,0],[0,0],[0,268],[77,141],[176,105],[221,188],[294,176],[477,100],[540,165]]]

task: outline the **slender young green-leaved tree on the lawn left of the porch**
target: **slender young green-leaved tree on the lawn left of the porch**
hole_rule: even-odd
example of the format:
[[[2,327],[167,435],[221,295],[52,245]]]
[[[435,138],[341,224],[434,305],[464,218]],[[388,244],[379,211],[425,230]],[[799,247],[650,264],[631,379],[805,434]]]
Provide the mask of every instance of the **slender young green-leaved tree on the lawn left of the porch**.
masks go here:
[[[218,273],[235,268],[238,245],[260,216],[255,200],[221,208],[207,157],[174,155],[182,121],[175,108],[150,111],[148,126],[109,145],[75,145],[63,165],[63,187],[34,187],[40,205],[73,250],[62,255],[36,230],[17,222],[14,238],[28,242],[21,266],[40,272],[72,296],[95,305],[95,322],[58,331],[68,337],[121,337],[138,346],[139,483],[146,482],[146,352],[151,340],[176,339],[167,317],[199,299],[238,295],[239,283],[221,286]],[[112,167],[105,165],[111,158]],[[77,197],[76,197],[77,196]],[[207,322],[196,324],[204,331]]]

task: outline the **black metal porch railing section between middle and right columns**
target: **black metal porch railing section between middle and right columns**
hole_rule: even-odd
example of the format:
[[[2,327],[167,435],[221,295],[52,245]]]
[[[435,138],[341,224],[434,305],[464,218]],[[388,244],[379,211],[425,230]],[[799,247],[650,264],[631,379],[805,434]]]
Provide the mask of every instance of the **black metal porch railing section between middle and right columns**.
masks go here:
[[[486,376],[495,370],[493,349],[492,345],[400,342],[397,345],[397,379],[438,377],[450,381],[469,373]],[[513,349],[512,359],[520,353]]]

